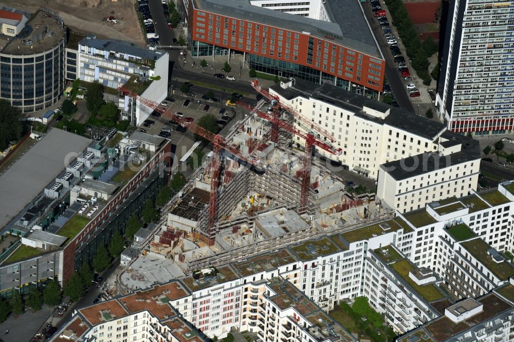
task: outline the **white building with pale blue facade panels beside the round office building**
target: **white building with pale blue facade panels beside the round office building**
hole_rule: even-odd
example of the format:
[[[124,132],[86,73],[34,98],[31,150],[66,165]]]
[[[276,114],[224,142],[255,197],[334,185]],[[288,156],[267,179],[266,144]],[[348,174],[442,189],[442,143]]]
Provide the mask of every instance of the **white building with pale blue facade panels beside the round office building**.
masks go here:
[[[168,95],[168,53],[143,49],[128,43],[97,39],[88,35],[79,42],[77,77],[86,82],[98,81],[110,92],[120,85],[140,97],[159,104]],[[146,120],[152,108],[122,94],[115,96],[121,118],[137,126]]]

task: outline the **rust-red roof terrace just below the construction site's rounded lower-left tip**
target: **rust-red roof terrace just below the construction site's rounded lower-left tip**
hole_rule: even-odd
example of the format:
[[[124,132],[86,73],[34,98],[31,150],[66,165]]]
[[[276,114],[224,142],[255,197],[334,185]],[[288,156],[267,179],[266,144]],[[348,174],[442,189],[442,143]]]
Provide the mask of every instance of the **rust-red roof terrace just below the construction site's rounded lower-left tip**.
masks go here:
[[[180,283],[173,281],[164,285],[156,285],[148,290],[138,291],[119,300],[131,313],[148,309],[152,315],[164,319],[173,314],[168,303],[187,295],[188,293]]]

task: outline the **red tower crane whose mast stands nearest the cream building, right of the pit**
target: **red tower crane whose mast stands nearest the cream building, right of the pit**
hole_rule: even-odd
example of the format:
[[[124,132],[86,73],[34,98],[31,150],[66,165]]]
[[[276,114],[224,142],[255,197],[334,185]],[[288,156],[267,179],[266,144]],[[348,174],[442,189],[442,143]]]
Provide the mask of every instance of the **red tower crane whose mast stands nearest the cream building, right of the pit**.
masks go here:
[[[304,158],[304,165],[303,165],[303,169],[302,169],[302,186],[301,186],[300,207],[299,207],[300,211],[304,211],[305,208],[307,207],[308,201],[309,201],[310,170],[311,170],[311,166],[313,163],[313,146],[318,146],[318,147],[324,149],[325,151],[327,151],[333,155],[336,155],[336,156],[341,155],[342,149],[341,148],[335,149],[331,145],[318,140],[312,132],[305,133],[301,130],[296,129],[295,127],[293,127],[293,125],[291,125],[287,121],[280,120],[280,118],[276,115],[271,116],[265,112],[255,109],[252,106],[250,106],[244,102],[241,102],[241,101],[238,101],[237,104],[245,107],[250,112],[256,113],[256,115],[258,117],[270,121],[272,125],[284,128],[287,131],[291,132],[292,134],[295,134],[296,136],[301,137],[302,139],[305,140],[305,158]]]

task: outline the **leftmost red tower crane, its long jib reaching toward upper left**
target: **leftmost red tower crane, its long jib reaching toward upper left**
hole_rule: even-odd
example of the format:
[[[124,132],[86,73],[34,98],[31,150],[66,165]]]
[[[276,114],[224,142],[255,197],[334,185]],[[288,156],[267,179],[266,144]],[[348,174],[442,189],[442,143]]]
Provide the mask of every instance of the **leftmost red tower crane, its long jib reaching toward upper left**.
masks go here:
[[[118,87],[118,90],[121,91],[122,94],[125,94],[135,100],[138,100],[139,102],[143,103],[144,105],[161,113],[164,117],[172,119],[173,121],[177,122],[179,125],[187,127],[189,130],[193,131],[200,137],[203,137],[209,141],[212,141],[214,146],[212,149],[213,154],[212,154],[212,161],[211,161],[211,193],[209,196],[209,218],[207,220],[207,233],[210,234],[212,227],[216,223],[216,216],[217,216],[218,183],[219,183],[219,167],[220,167],[220,159],[221,159],[220,158],[221,150],[224,149],[224,150],[228,151],[230,154],[237,157],[238,159],[241,159],[241,160],[243,160],[251,165],[257,166],[257,167],[260,167],[259,166],[260,161],[258,159],[252,159],[250,157],[244,156],[240,150],[230,146],[221,135],[214,134],[214,133],[208,131],[207,129],[196,125],[195,123],[187,122],[185,120],[185,118],[175,115],[175,113],[173,113],[169,108],[161,108],[161,107],[159,107],[158,103],[140,97],[139,94],[135,93],[134,91],[128,89],[127,87],[125,87],[123,85],[120,85]]]

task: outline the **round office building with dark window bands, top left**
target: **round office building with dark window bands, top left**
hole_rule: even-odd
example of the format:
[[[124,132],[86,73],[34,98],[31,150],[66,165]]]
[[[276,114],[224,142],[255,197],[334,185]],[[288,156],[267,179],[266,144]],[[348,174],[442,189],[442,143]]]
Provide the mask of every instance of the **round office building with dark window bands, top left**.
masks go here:
[[[54,13],[0,10],[0,98],[24,113],[55,104],[64,90],[66,27]],[[6,27],[7,26],[7,27]]]

